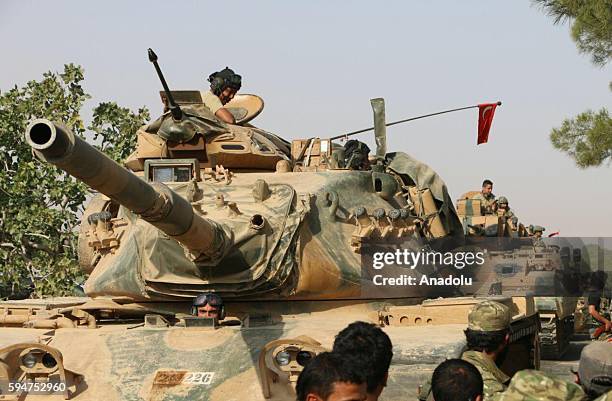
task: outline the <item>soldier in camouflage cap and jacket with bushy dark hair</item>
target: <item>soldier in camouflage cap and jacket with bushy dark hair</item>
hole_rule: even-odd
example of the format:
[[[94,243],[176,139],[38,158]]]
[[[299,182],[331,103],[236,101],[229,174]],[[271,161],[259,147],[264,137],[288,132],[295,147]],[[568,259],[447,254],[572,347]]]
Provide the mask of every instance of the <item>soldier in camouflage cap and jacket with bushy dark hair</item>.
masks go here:
[[[510,340],[510,308],[495,301],[484,301],[472,308],[465,330],[468,351],[461,359],[476,366],[482,375],[484,400],[504,391],[510,381],[495,364]]]

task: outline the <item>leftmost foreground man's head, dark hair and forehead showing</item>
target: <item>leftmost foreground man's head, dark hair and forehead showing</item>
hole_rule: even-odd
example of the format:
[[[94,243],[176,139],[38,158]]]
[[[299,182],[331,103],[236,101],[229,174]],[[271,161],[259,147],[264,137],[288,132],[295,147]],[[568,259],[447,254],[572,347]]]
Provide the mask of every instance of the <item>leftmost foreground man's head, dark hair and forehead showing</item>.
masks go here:
[[[366,382],[355,358],[323,352],[306,365],[295,391],[298,401],[364,401]]]

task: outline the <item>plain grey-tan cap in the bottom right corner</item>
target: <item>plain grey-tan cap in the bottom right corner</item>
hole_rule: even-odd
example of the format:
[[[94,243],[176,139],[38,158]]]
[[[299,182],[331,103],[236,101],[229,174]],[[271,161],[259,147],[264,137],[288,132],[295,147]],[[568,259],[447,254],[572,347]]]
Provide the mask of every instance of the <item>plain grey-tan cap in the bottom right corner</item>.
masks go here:
[[[612,390],[612,344],[594,342],[582,349],[578,364],[580,384],[600,395]]]

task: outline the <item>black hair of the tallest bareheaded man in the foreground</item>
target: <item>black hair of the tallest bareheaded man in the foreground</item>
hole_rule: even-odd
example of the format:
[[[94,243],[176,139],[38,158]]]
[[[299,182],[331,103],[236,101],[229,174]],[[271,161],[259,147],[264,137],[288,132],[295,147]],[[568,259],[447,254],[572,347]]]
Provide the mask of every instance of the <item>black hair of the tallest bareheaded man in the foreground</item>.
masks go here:
[[[336,336],[334,352],[354,355],[366,372],[368,393],[383,384],[389,371],[393,346],[389,336],[372,323],[354,322]]]

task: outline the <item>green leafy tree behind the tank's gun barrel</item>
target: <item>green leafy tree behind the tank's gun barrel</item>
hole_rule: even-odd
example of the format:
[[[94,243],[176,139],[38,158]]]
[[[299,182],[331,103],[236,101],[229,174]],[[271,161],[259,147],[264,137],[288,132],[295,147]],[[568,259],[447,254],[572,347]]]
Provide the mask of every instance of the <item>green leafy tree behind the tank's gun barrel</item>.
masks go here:
[[[64,123],[83,137],[80,116],[90,98],[80,66],[0,94],[0,296],[33,289],[36,296],[66,295],[84,278],[76,261],[78,217],[87,188],[57,168],[40,163],[23,140],[32,118]],[[129,154],[135,129],[149,118],[115,103],[94,109],[90,129],[115,158]],[[33,288],[28,288],[33,287]]]

